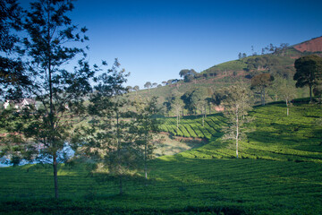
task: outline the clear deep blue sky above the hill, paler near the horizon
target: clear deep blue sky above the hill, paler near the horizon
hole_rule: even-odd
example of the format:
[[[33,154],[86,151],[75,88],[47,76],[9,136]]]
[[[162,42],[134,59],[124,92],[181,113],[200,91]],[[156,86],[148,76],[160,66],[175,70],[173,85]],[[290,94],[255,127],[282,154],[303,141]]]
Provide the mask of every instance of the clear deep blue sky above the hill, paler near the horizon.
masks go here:
[[[260,54],[272,43],[294,45],[322,36],[321,0],[78,0],[70,17],[86,26],[91,63],[117,57],[126,85],[179,78]]]

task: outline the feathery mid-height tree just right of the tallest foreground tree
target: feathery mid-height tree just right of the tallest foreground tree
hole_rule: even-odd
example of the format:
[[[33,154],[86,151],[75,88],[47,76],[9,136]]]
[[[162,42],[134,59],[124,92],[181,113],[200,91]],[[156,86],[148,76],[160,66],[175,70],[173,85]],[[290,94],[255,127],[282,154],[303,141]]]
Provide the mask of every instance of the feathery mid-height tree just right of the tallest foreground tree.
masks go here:
[[[91,171],[108,171],[108,176],[118,181],[119,193],[123,194],[123,179],[136,168],[136,153],[133,136],[129,133],[130,122],[126,116],[126,102],[123,87],[128,73],[119,71],[115,59],[112,69],[96,79],[95,92],[89,98],[89,126],[77,130],[80,155],[94,164]],[[99,169],[102,168],[102,169]]]

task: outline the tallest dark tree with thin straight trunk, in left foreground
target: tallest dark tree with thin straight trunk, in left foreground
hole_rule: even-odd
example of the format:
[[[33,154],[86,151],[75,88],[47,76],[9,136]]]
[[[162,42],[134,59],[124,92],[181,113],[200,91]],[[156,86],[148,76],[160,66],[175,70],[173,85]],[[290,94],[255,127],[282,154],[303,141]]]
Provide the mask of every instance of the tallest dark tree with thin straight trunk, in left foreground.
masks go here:
[[[83,35],[85,28],[75,33],[77,27],[65,14],[72,11],[71,1],[38,0],[30,5],[30,12],[23,19],[26,38],[21,53],[32,81],[25,93],[40,107],[29,106],[14,115],[3,113],[4,117],[13,119],[6,126],[11,133],[7,137],[12,137],[7,151],[21,150],[20,155],[25,155],[25,159],[49,160],[54,168],[55,198],[58,198],[59,152],[72,136],[76,116],[81,119],[85,114],[84,97],[91,90],[89,79],[94,72],[84,60],[83,49],[73,47],[74,42],[88,38]],[[65,69],[64,65],[79,55],[82,56],[78,66]]]

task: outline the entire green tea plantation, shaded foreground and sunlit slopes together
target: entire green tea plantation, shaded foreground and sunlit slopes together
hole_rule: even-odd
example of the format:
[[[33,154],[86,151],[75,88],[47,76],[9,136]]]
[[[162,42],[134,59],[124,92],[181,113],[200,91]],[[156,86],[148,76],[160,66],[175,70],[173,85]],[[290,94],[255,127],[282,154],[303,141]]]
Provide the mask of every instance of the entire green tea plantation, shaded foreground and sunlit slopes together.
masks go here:
[[[322,214],[322,107],[284,103],[255,107],[247,140],[235,159],[224,141],[221,114],[163,118],[171,135],[208,140],[199,148],[149,164],[149,182],[128,178],[125,194],[84,165],[62,165],[60,196],[52,199],[52,168],[0,168],[1,214]]]

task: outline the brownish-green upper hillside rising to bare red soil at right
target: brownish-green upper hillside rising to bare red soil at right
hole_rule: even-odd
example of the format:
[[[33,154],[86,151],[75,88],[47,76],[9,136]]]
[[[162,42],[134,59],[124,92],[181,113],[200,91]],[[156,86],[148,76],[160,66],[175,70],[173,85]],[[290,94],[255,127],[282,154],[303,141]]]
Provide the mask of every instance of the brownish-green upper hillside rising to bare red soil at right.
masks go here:
[[[278,49],[275,53],[247,56],[238,60],[216,64],[198,73],[191,82],[181,80],[150,90],[140,90],[135,94],[144,97],[157,96],[159,103],[162,104],[166,98],[171,96],[174,90],[178,90],[182,94],[198,88],[216,91],[236,82],[249,83],[251,77],[258,73],[271,73],[275,77],[282,77],[292,82],[292,76],[295,73],[293,66],[295,59],[310,54],[322,56],[322,37],[284,47],[281,50]],[[298,98],[307,97],[308,90],[305,88],[296,89],[296,94]],[[272,98],[267,97],[267,99],[268,101],[274,101],[273,95]]]

